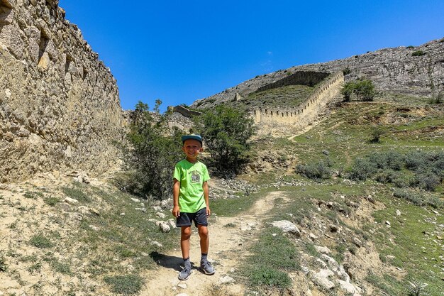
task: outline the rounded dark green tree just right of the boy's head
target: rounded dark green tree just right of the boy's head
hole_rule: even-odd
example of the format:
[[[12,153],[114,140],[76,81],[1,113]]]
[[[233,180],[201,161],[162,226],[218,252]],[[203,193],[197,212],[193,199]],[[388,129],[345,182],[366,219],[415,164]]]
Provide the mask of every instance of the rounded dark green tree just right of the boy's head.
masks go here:
[[[253,120],[245,111],[219,105],[193,121],[219,172],[239,172],[248,161],[248,139],[255,133]]]

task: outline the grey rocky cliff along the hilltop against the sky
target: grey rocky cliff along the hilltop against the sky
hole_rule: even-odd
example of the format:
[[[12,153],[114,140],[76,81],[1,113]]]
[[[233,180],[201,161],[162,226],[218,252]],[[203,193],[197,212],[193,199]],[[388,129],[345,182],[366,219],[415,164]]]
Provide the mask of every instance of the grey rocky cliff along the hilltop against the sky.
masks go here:
[[[297,71],[343,70],[346,74],[345,81],[367,78],[382,92],[429,97],[433,93],[444,92],[444,38],[416,47],[384,48],[342,60],[301,65],[258,75],[211,97],[199,99],[192,107],[203,108],[227,102],[233,99],[236,93],[246,96]]]

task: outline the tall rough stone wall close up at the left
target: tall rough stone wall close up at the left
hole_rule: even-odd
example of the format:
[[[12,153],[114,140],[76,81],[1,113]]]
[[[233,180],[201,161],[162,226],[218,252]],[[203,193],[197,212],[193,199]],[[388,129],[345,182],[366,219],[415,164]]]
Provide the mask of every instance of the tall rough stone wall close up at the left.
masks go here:
[[[0,124],[0,182],[116,160],[116,80],[58,0],[0,0]]]

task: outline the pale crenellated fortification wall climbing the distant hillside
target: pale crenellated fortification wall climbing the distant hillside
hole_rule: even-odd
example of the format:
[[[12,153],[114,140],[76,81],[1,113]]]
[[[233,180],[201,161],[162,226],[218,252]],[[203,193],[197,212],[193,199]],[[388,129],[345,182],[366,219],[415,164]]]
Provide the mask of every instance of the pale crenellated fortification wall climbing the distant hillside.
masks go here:
[[[327,103],[335,97],[344,82],[343,72],[335,72],[316,86],[304,104],[296,108],[258,108],[251,111],[260,134],[289,131],[311,124]]]

